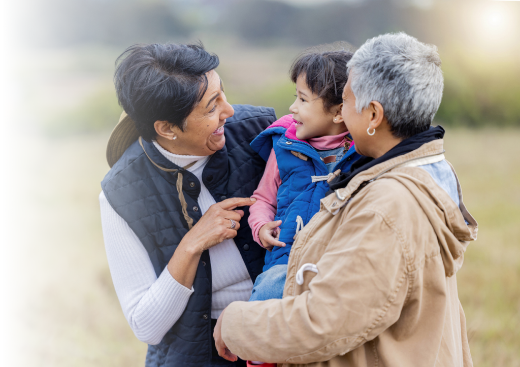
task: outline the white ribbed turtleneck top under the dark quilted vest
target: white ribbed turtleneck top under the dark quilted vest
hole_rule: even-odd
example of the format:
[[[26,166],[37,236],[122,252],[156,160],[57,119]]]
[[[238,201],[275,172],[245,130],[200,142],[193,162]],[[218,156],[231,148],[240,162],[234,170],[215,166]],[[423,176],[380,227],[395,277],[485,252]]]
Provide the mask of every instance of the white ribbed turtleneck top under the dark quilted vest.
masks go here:
[[[209,156],[177,155],[164,150],[157,142],[154,145],[166,159],[179,167],[197,161],[188,171],[200,181],[198,203],[204,214],[216,203],[202,183],[202,171]],[[188,289],[179,284],[166,267],[158,278],[145,247],[126,221],[110,206],[102,191],[99,203],[108,265],[124,316],[139,340],[158,344],[184,312],[193,287]],[[216,319],[231,302],[248,300],[253,282],[235,241],[225,240],[211,247],[209,252],[211,317]]]

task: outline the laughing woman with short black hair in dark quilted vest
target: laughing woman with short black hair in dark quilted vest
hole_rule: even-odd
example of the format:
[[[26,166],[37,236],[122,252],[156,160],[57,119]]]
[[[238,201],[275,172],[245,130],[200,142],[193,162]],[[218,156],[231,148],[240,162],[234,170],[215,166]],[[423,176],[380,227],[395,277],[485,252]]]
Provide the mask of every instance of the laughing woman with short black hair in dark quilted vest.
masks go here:
[[[125,112],[99,200],[123,313],[147,366],[244,365],[218,357],[212,331],[262,271],[248,207],[265,162],[249,143],[274,110],[231,106],[200,45],[134,45],[116,62]]]

